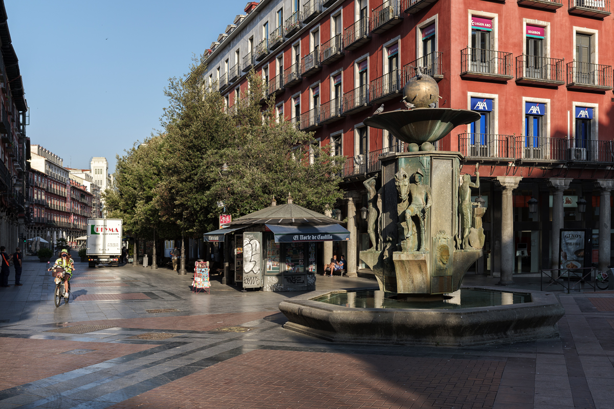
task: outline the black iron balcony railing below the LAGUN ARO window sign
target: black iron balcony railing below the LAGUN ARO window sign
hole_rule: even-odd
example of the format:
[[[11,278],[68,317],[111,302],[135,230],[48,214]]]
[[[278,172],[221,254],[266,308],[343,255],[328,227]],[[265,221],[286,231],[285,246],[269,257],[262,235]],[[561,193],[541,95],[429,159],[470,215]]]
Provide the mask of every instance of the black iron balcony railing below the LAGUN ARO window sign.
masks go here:
[[[511,53],[467,47],[461,51],[461,75],[507,81],[513,78],[512,58]]]

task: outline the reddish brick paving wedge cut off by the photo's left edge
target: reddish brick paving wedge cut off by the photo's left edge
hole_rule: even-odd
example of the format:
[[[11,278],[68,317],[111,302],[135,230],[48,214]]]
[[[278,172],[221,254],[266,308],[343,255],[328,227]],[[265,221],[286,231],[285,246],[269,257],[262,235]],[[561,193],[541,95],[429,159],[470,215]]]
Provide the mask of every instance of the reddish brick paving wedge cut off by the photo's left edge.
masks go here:
[[[148,350],[154,346],[156,345],[2,338],[0,356],[4,370],[0,371],[0,390]],[[87,354],[64,354],[79,349],[95,351]],[[8,368],[10,370],[7,370]]]

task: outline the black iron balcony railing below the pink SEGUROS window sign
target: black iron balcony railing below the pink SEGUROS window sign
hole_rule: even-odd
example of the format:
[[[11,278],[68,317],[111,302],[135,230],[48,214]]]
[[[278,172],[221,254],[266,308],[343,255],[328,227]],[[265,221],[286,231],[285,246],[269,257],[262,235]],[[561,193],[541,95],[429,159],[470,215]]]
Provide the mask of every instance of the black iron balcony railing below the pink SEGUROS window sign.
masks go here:
[[[519,55],[516,57],[516,82],[526,84],[562,85],[564,60],[558,58]]]

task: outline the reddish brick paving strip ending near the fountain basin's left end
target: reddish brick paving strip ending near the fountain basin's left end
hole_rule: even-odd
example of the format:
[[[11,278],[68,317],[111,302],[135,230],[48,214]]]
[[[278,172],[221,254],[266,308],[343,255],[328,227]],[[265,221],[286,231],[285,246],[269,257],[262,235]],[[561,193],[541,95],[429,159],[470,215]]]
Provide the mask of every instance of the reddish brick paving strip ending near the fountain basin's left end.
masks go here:
[[[112,325],[122,328],[144,328],[144,329],[179,329],[193,331],[211,331],[219,327],[239,325],[265,318],[279,312],[263,311],[254,313],[228,313],[228,314],[209,314],[209,315],[183,315],[183,316],[163,316],[147,318],[120,318],[120,319],[97,319],[95,321],[79,321],[70,323],[78,324],[99,324]]]

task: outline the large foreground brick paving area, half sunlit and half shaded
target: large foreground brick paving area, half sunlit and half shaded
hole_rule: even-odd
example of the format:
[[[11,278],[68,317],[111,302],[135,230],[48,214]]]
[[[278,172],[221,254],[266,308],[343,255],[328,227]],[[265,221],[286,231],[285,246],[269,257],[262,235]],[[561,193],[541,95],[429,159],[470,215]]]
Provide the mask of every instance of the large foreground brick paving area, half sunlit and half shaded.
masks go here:
[[[256,350],[109,408],[491,408],[505,362]]]

